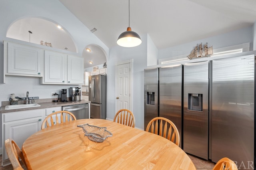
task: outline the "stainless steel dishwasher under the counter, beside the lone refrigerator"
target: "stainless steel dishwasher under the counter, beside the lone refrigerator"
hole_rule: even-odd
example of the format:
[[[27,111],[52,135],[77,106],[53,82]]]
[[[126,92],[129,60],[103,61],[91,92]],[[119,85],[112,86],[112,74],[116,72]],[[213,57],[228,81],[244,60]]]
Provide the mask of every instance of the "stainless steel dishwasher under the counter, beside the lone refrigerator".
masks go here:
[[[89,119],[89,104],[62,106],[62,111],[69,111],[76,116],[76,119]]]

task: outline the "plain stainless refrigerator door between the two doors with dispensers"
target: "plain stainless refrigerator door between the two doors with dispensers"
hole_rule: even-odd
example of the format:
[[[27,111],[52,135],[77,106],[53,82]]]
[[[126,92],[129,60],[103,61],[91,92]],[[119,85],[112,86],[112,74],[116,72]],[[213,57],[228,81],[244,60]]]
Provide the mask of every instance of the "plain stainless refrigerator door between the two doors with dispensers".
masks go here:
[[[176,125],[182,141],[181,64],[159,68],[159,116],[169,119]]]

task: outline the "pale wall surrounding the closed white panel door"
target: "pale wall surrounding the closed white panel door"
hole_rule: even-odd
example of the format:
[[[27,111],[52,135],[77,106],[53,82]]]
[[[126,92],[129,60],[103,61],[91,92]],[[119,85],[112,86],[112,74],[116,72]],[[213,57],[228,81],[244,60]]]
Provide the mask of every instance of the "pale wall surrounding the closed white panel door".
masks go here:
[[[137,47],[116,46],[110,49],[107,73],[107,118],[113,120],[115,113],[115,65],[133,59],[133,114],[136,127],[144,129],[144,69],[147,66],[147,35],[140,35],[142,43]]]

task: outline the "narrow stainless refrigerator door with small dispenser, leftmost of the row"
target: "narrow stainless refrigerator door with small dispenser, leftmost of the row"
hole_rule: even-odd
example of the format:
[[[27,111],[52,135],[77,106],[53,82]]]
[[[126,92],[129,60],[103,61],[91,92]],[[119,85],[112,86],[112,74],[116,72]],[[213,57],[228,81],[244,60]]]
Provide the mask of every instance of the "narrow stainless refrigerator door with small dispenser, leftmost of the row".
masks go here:
[[[144,69],[144,130],[158,117],[158,68]]]

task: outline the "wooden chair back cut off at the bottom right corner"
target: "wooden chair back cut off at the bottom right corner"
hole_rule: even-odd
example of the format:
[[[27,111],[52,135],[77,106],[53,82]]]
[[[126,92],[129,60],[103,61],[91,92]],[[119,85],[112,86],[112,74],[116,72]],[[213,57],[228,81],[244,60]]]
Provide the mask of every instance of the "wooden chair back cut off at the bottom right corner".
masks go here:
[[[221,158],[212,170],[238,170],[234,161],[229,158]]]

